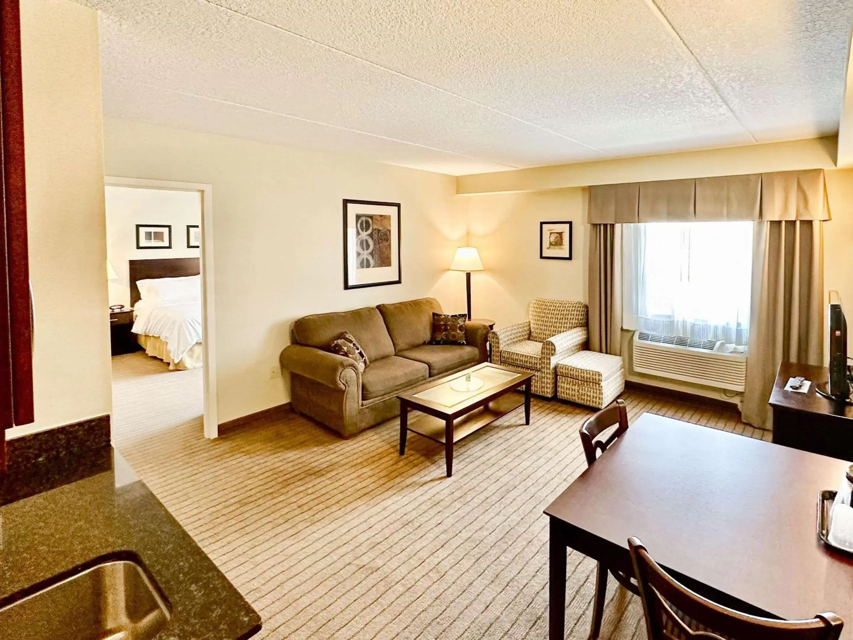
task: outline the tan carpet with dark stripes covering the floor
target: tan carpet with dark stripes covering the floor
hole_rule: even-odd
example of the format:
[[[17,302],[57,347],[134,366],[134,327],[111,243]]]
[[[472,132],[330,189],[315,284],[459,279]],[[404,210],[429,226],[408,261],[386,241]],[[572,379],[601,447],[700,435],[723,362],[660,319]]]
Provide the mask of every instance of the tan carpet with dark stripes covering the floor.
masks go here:
[[[548,637],[543,509],[585,468],[591,411],[534,400],[444,453],[398,424],[350,440],[288,416],[206,441],[200,370],[113,358],[113,439],[264,620],[266,638]],[[624,394],[653,411],[769,439],[727,410]],[[568,558],[567,637],[585,638],[595,563]],[[639,601],[611,580],[602,638],[642,638]]]

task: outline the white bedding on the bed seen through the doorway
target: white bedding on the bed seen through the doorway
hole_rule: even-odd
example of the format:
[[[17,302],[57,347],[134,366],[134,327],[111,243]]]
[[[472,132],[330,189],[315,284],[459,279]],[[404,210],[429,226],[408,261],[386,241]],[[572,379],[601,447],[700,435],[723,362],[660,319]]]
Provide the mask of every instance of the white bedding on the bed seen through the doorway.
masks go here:
[[[156,335],[169,347],[171,359],[181,361],[196,342],[201,341],[201,303],[164,305],[155,300],[139,300],[133,307],[133,333]]]

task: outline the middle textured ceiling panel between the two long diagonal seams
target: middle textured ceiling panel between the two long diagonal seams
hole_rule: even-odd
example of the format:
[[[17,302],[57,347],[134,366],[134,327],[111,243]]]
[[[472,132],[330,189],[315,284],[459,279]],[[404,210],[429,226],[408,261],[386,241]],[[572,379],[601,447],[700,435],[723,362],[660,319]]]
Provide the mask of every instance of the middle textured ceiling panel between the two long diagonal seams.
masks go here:
[[[213,1],[617,154],[743,131],[640,0]]]

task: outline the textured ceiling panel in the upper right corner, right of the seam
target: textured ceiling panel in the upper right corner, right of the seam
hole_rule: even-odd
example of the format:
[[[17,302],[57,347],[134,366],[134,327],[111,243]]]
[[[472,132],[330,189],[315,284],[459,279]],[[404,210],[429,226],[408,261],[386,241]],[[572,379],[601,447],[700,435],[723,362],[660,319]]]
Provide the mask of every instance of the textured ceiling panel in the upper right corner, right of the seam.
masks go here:
[[[656,2],[758,142],[838,131],[848,0]]]

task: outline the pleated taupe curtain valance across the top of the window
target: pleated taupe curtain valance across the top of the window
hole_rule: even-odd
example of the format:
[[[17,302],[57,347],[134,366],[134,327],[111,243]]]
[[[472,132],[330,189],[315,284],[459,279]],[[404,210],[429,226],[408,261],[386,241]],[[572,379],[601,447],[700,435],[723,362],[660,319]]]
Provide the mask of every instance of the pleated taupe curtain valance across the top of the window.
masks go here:
[[[828,220],[822,169],[589,188],[589,222]]]

